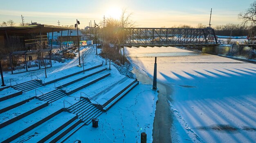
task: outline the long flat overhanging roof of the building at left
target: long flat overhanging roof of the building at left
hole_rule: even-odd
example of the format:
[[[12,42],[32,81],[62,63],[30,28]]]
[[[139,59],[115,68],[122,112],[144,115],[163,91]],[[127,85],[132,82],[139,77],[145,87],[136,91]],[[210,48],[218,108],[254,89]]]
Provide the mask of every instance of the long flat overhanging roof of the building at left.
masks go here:
[[[0,35],[5,34],[5,31],[8,34],[26,34],[26,33],[49,33],[56,32],[61,30],[74,30],[74,28],[62,27],[62,26],[53,26],[53,25],[31,25],[31,26],[14,26],[14,27],[0,27]]]

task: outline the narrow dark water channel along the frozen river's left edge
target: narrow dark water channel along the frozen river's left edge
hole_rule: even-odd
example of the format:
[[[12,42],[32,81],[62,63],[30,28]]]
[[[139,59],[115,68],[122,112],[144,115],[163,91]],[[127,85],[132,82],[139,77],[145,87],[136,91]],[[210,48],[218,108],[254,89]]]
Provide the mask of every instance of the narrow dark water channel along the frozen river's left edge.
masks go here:
[[[132,71],[137,79],[146,85],[152,85],[153,79],[137,69]],[[171,125],[173,116],[171,115],[168,100],[171,101],[171,85],[157,81],[158,100],[156,103],[155,119],[153,124],[153,143],[171,143]]]

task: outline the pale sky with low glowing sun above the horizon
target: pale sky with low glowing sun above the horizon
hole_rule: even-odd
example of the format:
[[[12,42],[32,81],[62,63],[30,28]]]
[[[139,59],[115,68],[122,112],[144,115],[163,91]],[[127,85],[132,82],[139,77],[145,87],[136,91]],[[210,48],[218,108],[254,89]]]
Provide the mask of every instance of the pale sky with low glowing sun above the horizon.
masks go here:
[[[18,26],[37,22],[58,26],[79,27],[98,24],[106,18],[118,19],[123,9],[132,13],[136,27],[172,27],[179,25],[240,24],[238,14],[246,11],[254,0],[0,0],[0,22],[13,20]]]

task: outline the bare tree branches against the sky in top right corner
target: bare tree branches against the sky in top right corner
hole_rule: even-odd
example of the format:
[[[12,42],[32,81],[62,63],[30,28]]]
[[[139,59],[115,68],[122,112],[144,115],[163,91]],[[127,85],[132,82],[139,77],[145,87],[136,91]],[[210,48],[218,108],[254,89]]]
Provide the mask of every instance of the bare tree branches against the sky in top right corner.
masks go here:
[[[245,12],[239,13],[238,18],[243,19],[243,24],[247,24],[248,22],[256,24],[256,1]]]

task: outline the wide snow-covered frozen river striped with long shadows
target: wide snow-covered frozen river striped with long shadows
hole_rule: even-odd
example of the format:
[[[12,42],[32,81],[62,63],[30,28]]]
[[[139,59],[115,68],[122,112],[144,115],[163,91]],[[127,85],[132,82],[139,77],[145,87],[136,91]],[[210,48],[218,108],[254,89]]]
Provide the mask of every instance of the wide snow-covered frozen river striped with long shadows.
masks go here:
[[[256,65],[173,47],[126,48],[134,65],[170,85],[173,142],[256,142]]]

